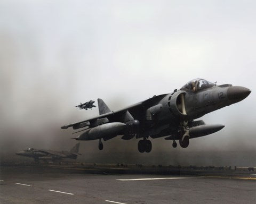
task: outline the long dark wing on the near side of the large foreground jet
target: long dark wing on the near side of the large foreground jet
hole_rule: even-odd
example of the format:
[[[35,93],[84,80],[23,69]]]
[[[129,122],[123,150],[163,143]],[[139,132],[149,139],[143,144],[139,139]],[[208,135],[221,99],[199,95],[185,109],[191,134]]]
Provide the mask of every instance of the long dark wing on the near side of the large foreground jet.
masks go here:
[[[153,104],[156,103],[156,101],[160,101],[162,98],[164,98],[166,94],[163,95],[158,95],[153,98],[149,98],[147,100],[141,101],[137,104],[119,109],[118,111],[112,111],[109,113],[105,113],[102,115],[98,115],[92,118],[89,118],[87,120],[81,121],[81,122],[76,122],[68,125],[63,125],[61,129],[67,129],[70,127],[73,127],[73,129],[79,129],[79,128],[84,128],[85,126],[89,126],[92,124],[94,121],[97,121],[97,119],[101,118],[107,118],[108,122],[121,122],[121,118],[123,114],[125,114],[127,111],[137,120],[141,120],[143,117],[145,117],[145,114],[143,111],[145,109],[151,107]]]

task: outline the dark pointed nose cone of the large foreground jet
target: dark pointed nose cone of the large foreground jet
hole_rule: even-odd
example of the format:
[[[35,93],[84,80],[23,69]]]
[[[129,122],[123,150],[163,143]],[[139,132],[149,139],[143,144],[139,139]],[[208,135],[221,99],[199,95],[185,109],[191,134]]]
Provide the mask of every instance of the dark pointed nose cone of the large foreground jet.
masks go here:
[[[249,96],[250,93],[251,90],[245,87],[229,87],[227,96],[229,100],[240,101]]]

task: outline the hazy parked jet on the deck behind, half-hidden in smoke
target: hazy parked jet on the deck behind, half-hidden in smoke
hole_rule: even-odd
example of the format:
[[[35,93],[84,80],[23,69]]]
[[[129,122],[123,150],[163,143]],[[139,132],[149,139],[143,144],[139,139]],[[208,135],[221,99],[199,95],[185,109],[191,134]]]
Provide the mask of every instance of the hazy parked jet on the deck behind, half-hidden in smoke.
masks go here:
[[[63,158],[76,159],[78,155],[81,155],[78,153],[79,145],[80,143],[77,143],[70,151],[52,151],[52,150],[28,148],[20,152],[17,152],[16,154],[20,156],[34,158],[35,162],[38,162],[38,160],[55,161],[55,160],[61,160]]]

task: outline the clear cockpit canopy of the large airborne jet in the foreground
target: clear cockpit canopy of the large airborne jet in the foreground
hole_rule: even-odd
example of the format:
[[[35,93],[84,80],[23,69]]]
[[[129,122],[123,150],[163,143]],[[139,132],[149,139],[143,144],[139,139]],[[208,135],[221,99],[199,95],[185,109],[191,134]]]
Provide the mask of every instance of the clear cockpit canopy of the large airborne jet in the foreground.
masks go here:
[[[189,81],[188,83],[186,83],[183,87],[181,87],[181,90],[190,90],[193,92],[197,92],[197,91],[211,88],[214,86],[215,86],[215,84],[210,81],[197,78],[197,79],[193,79],[193,80]]]

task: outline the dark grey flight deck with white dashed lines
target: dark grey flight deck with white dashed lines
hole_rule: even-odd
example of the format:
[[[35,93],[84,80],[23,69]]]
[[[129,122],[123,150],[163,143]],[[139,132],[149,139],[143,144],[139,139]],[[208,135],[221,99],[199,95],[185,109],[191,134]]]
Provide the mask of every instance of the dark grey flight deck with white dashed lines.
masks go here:
[[[2,163],[0,203],[255,203],[256,168]]]

